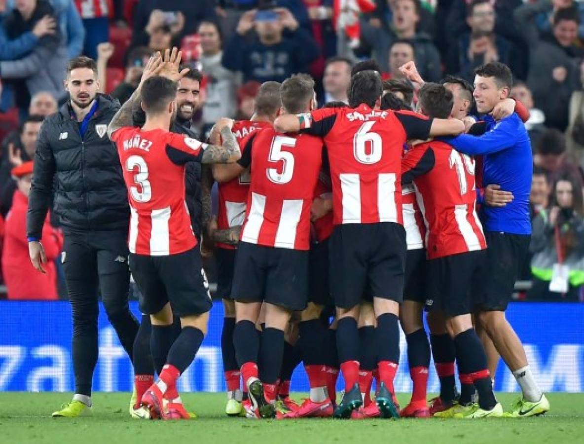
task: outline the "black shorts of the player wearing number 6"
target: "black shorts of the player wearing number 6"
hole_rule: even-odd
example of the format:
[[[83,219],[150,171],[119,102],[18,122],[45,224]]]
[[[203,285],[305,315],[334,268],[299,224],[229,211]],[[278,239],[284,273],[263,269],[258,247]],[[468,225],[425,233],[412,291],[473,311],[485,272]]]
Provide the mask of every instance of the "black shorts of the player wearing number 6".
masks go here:
[[[401,303],[407,251],[403,226],[392,222],[338,225],[329,242],[336,307],[352,308],[366,292]]]

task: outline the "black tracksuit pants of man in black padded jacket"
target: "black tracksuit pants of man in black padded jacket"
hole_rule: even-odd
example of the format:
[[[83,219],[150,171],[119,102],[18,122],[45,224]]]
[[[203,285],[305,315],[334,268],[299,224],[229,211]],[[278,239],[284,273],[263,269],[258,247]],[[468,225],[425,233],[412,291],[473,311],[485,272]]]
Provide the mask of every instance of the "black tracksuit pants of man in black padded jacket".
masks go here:
[[[128,307],[127,231],[68,228],[62,262],[73,314],[75,393],[91,396],[98,360],[98,288],[107,318],[130,359],[138,332],[138,321]]]

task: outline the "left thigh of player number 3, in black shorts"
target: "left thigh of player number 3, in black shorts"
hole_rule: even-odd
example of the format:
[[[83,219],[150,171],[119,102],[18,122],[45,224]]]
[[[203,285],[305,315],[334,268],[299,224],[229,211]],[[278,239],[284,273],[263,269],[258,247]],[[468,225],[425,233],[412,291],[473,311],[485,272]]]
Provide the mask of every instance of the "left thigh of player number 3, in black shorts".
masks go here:
[[[128,264],[134,281],[140,290],[138,301],[144,314],[157,314],[168,303],[164,282],[158,275],[155,258],[130,253]]]

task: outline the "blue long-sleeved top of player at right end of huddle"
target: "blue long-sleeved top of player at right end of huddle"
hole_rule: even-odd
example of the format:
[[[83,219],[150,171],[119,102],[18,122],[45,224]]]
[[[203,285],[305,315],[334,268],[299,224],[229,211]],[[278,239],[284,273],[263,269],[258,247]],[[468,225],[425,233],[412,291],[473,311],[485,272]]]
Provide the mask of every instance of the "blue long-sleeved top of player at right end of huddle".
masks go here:
[[[483,120],[486,132],[482,136],[461,134],[447,142],[464,154],[483,155],[483,186],[500,185],[502,190],[513,193],[513,202],[505,207],[482,206],[485,230],[529,235],[533,157],[527,130],[516,113],[499,122],[491,116],[484,116]]]

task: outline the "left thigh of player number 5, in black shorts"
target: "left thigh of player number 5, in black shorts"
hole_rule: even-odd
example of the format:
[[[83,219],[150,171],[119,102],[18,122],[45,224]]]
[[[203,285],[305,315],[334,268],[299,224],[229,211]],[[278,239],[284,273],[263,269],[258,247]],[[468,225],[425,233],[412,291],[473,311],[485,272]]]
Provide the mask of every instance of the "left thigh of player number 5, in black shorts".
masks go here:
[[[239,302],[261,302],[265,290],[267,248],[239,242],[231,297]]]

